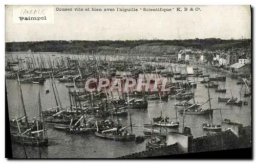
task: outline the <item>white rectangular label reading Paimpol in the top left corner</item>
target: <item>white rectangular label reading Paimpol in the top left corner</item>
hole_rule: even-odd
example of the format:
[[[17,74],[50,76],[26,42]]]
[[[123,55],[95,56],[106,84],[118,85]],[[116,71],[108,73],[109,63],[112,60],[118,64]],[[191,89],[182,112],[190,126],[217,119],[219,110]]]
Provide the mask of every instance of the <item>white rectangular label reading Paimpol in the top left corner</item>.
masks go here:
[[[54,6],[12,6],[13,24],[54,24]]]

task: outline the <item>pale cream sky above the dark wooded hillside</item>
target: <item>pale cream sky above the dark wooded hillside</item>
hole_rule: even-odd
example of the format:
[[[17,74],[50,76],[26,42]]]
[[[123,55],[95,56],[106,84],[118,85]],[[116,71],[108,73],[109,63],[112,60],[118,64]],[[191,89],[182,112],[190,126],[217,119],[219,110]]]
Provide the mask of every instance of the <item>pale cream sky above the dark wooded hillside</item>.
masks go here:
[[[42,6],[40,6],[42,7]],[[44,6],[43,6],[44,7]],[[49,6],[45,6],[46,8]],[[178,12],[92,12],[74,8],[194,8]],[[195,11],[195,8],[201,11]],[[56,11],[72,8],[72,11]],[[54,24],[13,24],[6,7],[5,41],[251,38],[250,6],[54,6]]]

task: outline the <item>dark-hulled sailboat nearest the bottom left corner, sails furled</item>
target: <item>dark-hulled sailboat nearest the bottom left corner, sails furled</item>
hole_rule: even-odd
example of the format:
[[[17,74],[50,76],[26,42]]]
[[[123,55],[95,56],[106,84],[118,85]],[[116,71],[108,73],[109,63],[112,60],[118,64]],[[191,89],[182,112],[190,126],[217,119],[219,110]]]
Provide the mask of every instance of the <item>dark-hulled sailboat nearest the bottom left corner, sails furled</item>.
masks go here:
[[[38,92],[38,103],[39,103],[39,120],[36,121],[36,131],[32,131],[32,127],[27,129],[25,132],[21,132],[19,128],[19,124],[16,118],[16,122],[18,125],[18,130],[19,133],[11,133],[11,140],[14,143],[20,143],[23,145],[28,145],[28,146],[48,146],[48,136],[47,136],[47,131],[45,127],[45,122],[44,122],[44,116],[42,114],[42,108],[41,108],[41,100],[40,100],[40,88]],[[42,126],[38,125],[42,123]]]

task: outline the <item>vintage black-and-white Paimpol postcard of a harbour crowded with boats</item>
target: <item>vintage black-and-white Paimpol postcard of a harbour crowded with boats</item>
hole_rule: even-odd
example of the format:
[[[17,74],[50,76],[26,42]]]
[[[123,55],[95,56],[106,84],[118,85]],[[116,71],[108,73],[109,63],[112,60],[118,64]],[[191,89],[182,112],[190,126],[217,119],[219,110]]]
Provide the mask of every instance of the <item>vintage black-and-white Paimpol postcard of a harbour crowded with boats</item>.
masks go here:
[[[251,148],[251,6],[6,5],[5,14],[11,157]]]

